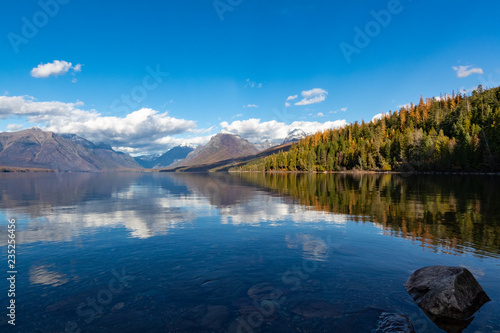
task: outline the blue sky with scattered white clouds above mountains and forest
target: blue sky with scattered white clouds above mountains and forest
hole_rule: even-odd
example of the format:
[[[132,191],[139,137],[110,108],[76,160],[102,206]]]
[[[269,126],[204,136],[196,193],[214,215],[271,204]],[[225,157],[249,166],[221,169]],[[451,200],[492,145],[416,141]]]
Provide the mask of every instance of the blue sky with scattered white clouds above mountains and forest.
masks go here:
[[[500,85],[499,12],[481,0],[7,1],[0,131],[141,154],[221,130],[279,142],[369,121],[421,94]]]

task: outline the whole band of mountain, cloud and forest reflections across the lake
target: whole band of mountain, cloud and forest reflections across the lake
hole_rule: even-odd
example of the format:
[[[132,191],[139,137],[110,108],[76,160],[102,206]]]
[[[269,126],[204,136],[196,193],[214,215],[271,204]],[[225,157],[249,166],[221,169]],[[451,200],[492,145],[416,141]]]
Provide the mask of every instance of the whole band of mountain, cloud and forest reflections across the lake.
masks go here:
[[[500,253],[494,177],[76,173],[2,175],[0,184],[1,211],[26,217],[20,243],[69,241],[101,227],[148,238],[220,215],[222,224],[253,226],[354,219],[433,250]]]

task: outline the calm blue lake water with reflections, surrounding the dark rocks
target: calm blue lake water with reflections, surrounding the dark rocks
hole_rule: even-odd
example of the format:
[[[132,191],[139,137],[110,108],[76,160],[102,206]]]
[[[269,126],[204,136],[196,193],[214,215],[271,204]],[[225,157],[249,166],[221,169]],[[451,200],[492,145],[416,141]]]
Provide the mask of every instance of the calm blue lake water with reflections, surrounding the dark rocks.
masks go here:
[[[467,267],[500,332],[493,176],[0,175],[16,220],[16,326],[2,332],[370,332],[384,312],[442,332],[404,284]]]

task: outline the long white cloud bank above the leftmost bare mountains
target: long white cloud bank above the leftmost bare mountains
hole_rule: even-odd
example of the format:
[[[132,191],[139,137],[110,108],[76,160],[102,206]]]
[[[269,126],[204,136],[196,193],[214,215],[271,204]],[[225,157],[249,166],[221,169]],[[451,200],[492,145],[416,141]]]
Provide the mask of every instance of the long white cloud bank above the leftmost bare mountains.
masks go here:
[[[38,102],[29,96],[0,96],[0,119],[27,117],[27,122],[56,133],[74,133],[113,147],[146,151],[165,150],[161,140],[181,133],[194,133],[192,120],[173,118],[167,112],[143,108],[125,117],[102,116],[83,110],[83,103]],[[195,140],[194,140],[195,141]],[[160,143],[160,144],[159,144]]]

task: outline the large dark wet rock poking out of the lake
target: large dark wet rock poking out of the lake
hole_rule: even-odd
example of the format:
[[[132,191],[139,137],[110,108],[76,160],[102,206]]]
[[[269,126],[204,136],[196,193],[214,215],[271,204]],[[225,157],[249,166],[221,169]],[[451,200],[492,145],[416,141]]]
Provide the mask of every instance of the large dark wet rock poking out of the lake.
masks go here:
[[[405,287],[436,324],[465,322],[490,301],[472,273],[463,267],[421,268],[410,276]]]

